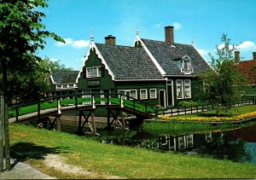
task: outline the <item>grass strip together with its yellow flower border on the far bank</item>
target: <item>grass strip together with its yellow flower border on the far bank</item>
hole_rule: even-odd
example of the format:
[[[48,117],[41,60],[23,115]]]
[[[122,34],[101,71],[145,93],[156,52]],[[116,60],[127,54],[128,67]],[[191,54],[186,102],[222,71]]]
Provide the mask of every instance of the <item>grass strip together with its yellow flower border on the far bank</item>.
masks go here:
[[[222,111],[218,113],[218,115],[216,110],[212,110],[204,113],[188,114],[175,117],[162,116],[160,119],[174,121],[229,122],[251,119],[253,117],[256,117],[256,105],[233,107],[230,111]]]

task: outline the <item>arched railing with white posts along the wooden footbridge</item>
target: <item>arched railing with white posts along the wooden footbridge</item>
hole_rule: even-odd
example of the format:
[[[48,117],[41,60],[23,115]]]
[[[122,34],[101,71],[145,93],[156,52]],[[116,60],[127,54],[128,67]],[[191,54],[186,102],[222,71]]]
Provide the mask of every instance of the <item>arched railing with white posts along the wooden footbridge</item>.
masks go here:
[[[16,120],[18,120],[18,116],[27,113],[37,112],[39,117],[42,110],[45,109],[60,110],[61,107],[69,106],[91,106],[92,108],[96,108],[96,105],[104,105],[107,107],[109,105],[118,105],[120,107],[130,108],[134,112],[137,111],[145,114],[154,113],[155,110],[155,108],[148,105],[148,103],[123,94],[81,93],[47,97],[38,102],[15,104],[9,109],[9,117],[16,117]]]

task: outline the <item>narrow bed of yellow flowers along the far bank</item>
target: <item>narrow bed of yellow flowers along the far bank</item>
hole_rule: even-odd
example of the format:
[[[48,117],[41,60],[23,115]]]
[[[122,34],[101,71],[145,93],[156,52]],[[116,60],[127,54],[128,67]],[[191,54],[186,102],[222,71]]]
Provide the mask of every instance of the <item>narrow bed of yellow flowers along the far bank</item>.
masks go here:
[[[241,115],[233,116],[233,117],[192,117],[192,118],[183,118],[183,117],[168,117],[162,116],[161,120],[178,120],[178,121],[203,121],[203,122],[228,122],[228,121],[241,121],[245,119],[256,119],[256,111],[251,113],[244,113]]]

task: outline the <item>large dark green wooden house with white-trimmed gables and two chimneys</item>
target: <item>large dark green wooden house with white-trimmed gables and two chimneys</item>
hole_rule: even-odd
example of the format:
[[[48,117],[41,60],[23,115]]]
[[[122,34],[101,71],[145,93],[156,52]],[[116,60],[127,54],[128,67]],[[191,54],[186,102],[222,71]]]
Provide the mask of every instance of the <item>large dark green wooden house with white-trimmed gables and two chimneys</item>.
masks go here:
[[[119,93],[162,107],[177,106],[200,93],[196,74],[210,66],[193,45],[176,44],[173,27],[166,41],[137,38],[134,47],[115,44],[115,37],[90,49],[76,79],[79,92]]]

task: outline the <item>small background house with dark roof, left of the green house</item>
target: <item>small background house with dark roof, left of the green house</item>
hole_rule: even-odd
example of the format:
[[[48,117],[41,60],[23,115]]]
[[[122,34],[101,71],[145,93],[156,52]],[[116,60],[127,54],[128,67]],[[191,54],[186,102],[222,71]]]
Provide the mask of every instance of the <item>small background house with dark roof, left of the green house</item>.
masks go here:
[[[76,78],[79,71],[52,71],[49,77],[48,96],[66,96],[75,94],[78,89]]]

